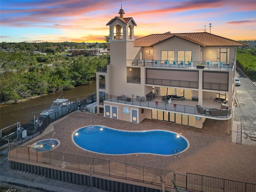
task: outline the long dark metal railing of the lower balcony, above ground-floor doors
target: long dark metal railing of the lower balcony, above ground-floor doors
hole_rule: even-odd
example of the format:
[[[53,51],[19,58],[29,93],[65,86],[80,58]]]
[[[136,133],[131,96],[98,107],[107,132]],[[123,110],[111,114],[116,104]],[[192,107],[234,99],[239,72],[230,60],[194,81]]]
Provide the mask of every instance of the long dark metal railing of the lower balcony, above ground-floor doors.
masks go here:
[[[186,106],[180,104],[169,104],[168,102],[159,102],[159,101],[150,101],[150,100],[137,100],[134,98],[120,98],[118,96],[112,96],[106,94],[105,101],[116,102],[116,103],[124,103],[139,107],[147,107],[151,109],[161,109],[167,110],[172,112],[181,112],[186,114],[194,114],[198,116],[210,116],[210,117],[217,117],[217,118],[227,118],[231,114],[231,109],[222,109],[218,110],[216,108],[202,108],[204,113],[201,111],[198,112],[197,108],[194,106]]]

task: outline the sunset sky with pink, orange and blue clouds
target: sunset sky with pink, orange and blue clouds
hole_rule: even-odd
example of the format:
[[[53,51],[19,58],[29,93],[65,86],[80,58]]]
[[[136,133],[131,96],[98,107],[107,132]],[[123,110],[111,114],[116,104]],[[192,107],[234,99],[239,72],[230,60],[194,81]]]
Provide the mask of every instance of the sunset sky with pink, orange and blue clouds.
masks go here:
[[[256,40],[256,0],[0,0],[0,42],[104,42],[124,9],[136,38],[210,32]]]

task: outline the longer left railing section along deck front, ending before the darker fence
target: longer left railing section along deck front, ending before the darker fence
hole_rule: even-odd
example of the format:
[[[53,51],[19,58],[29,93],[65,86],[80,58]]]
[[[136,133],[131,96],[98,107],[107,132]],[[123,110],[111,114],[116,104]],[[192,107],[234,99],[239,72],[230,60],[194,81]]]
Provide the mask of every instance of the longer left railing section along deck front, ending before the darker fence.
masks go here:
[[[28,160],[53,166],[75,169],[85,172],[124,178],[128,180],[160,184],[159,175],[163,175],[166,185],[172,186],[174,171],[136,164],[93,158],[64,152],[42,150],[27,146],[9,144],[8,157]]]

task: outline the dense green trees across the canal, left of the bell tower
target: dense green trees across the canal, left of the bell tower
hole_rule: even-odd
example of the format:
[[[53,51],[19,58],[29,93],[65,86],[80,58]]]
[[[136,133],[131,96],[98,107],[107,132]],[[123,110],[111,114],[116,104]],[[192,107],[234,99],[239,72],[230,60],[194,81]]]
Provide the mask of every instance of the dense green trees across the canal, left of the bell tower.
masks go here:
[[[61,92],[90,84],[97,66],[105,66],[108,55],[64,57],[0,52],[0,102],[9,102]]]

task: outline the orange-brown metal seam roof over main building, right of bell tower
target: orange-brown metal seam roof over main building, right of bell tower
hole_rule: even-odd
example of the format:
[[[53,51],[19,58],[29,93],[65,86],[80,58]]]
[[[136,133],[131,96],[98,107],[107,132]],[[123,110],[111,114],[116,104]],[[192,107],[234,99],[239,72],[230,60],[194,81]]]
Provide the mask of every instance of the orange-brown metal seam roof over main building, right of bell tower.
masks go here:
[[[238,42],[232,39],[210,34],[208,32],[200,33],[173,33],[151,34],[142,38],[138,38],[134,42],[135,47],[152,47],[160,42],[168,40],[172,37],[180,37],[188,41],[194,42],[201,46],[248,46],[248,44]]]

